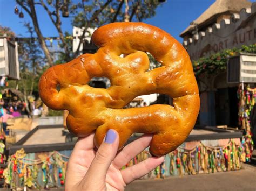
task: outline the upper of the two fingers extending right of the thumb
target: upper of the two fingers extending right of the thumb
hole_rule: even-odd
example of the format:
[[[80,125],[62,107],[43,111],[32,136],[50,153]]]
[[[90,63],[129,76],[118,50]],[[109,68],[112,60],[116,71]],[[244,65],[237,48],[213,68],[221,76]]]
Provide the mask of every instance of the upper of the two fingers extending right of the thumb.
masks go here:
[[[128,144],[117,154],[117,157],[113,161],[113,165],[120,169],[126,165],[131,159],[136,157],[137,154],[145,150],[149,146],[152,139],[152,135],[143,135],[142,137],[134,140]]]

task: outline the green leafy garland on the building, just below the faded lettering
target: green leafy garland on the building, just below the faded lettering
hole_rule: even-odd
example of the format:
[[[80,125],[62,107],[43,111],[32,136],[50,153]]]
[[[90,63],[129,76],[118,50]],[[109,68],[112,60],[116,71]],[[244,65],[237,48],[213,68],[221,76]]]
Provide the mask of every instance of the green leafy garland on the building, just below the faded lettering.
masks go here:
[[[256,53],[256,44],[249,46],[242,45],[241,48],[225,49],[208,57],[200,58],[193,61],[194,74],[200,76],[201,74],[215,74],[226,70],[227,60],[230,56],[239,55],[239,53]]]

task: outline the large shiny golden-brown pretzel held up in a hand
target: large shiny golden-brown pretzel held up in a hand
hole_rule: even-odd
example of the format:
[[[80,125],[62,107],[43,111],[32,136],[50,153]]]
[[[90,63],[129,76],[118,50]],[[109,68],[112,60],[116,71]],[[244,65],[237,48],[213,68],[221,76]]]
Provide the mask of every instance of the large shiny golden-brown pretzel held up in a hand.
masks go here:
[[[42,75],[39,95],[49,108],[69,110],[67,126],[78,137],[95,131],[99,146],[109,129],[119,133],[121,148],[134,132],[153,133],[150,153],[175,150],[187,138],[199,112],[199,94],[190,58],[170,34],[145,23],[111,23],[92,34],[95,54],[56,65]],[[150,52],[161,67],[149,71]],[[124,58],[120,54],[125,54]],[[107,89],[88,85],[107,77]],[[56,89],[60,86],[60,91]],[[173,98],[173,106],[122,109],[133,98],[153,93]]]

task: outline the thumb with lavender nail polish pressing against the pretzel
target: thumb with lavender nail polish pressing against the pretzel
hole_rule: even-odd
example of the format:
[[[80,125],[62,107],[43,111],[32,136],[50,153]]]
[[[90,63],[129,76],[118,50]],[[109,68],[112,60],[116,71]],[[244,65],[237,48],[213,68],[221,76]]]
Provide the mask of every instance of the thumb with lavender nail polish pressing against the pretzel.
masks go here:
[[[87,173],[86,178],[105,182],[107,171],[117,154],[119,135],[115,130],[108,130],[104,142],[99,146]],[[93,181],[92,180],[92,181]]]

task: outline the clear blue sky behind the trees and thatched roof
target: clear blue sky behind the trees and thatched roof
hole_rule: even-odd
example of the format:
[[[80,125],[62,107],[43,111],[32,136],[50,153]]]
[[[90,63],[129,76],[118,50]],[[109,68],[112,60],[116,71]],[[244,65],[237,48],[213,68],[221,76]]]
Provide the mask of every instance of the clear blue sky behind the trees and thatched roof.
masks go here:
[[[215,0],[167,0],[157,9],[156,16],[143,22],[157,26],[170,33],[180,42],[180,32],[198,18]],[[255,2],[256,0],[251,0]],[[23,22],[30,21],[29,16],[24,12],[24,18],[20,19],[14,14],[15,0],[0,0],[0,25],[10,27],[18,37],[29,36]],[[21,9],[21,8],[19,8]],[[43,8],[37,6],[38,21],[44,37],[55,37],[58,33],[44,12]],[[63,31],[72,33],[71,18],[63,18]]]

